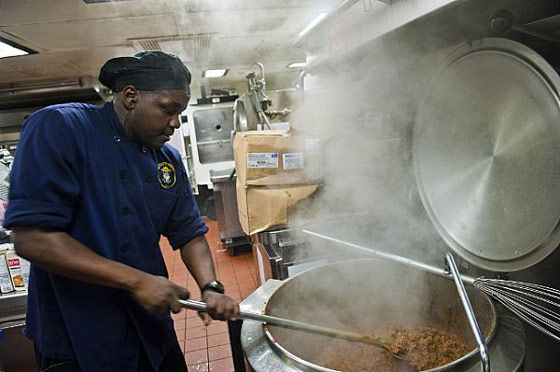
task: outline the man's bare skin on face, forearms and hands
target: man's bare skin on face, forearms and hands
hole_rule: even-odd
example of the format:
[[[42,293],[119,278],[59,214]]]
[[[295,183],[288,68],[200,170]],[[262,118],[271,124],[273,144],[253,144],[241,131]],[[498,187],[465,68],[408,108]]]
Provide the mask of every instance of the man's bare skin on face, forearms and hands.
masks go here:
[[[159,149],[181,125],[179,114],[189,98],[183,90],[146,92],[129,85],[117,94],[115,111],[129,140]],[[186,288],[167,278],[102,257],[66,232],[20,227],[13,229],[13,235],[17,254],[38,267],[86,283],[129,291],[151,313],[178,313],[179,299],[190,297]],[[180,252],[199,287],[216,279],[204,236],[191,240]],[[205,324],[210,323],[210,317],[227,320],[239,313],[239,305],[226,295],[205,291],[202,300],[208,305],[208,314],[201,314]]]

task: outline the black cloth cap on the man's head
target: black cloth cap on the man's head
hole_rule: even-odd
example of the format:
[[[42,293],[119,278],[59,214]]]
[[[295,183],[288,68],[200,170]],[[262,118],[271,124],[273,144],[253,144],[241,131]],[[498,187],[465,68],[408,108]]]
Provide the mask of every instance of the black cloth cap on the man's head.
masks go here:
[[[105,62],[99,81],[113,92],[127,85],[138,90],[186,90],[190,94],[191,73],[179,57],[156,50]]]

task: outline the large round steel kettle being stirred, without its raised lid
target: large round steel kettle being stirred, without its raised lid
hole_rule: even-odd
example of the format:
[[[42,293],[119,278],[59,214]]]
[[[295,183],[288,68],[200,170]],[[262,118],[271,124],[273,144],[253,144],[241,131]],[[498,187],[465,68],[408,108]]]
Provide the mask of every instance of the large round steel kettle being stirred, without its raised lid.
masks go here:
[[[398,283],[398,290],[388,290],[395,283]],[[521,371],[525,341],[520,321],[501,306],[495,306],[485,294],[470,286],[467,291],[488,343],[494,370]],[[431,371],[480,371],[476,342],[453,283],[393,262],[373,259],[341,261],[305,271],[282,282],[269,280],[240,307],[243,311],[264,312],[349,330],[376,329],[374,323],[441,326],[468,340],[472,351]],[[256,372],[337,370],[321,365],[316,359],[317,353],[333,355],[337,352],[336,348],[329,349],[330,341],[322,336],[245,321],[241,341],[248,363]],[[348,358],[345,355],[338,357]],[[365,359],[366,355],[356,362]]]

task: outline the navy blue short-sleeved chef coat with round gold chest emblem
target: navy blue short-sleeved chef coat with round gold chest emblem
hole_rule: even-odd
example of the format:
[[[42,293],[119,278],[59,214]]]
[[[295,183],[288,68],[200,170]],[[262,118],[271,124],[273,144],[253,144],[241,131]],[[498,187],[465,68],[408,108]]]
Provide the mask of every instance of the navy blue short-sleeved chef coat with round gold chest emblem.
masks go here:
[[[160,234],[172,247],[208,231],[177,150],[125,138],[112,103],[63,104],[24,124],[4,226],[65,231],[101,256],[167,277]],[[139,348],[157,370],[172,342],[169,315],[152,315],[123,290],[31,267],[27,336],[45,356],[83,371],[136,371]]]

